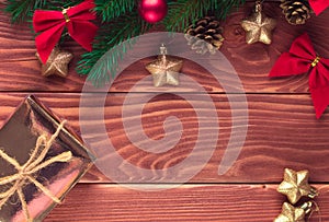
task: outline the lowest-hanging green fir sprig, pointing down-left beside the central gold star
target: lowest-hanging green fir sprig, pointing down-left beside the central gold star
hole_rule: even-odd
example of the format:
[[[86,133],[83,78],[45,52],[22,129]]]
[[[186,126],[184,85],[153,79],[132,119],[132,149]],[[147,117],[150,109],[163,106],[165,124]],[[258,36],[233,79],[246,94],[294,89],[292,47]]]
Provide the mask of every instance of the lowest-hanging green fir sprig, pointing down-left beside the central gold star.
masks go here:
[[[103,23],[95,37],[92,51],[83,54],[78,62],[78,73],[88,74],[88,80],[95,86],[104,85],[111,77],[115,77],[117,59],[122,58],[128,48],[128,44],[122,43],[146,33],[150,27],[151,25],[144,22],[136,11],[116,17],[111,23]],[[121,47],[113,50],[112,57],[102,61],[104,66],[92,69],[105,52],[120,44],[122,44]]]

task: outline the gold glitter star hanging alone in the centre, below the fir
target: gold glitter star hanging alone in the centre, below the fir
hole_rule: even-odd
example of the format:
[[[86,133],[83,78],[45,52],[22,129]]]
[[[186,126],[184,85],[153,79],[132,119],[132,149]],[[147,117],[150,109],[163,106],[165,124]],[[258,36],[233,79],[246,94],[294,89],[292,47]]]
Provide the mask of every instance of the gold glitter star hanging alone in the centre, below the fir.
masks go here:
[[[166,84],[179,85],[179,72],[182,67],[183,60],[167,56],[167,48],[162,44],[158,59],[147,65],[145,68],[152,74],[154,85],[158,87]]]

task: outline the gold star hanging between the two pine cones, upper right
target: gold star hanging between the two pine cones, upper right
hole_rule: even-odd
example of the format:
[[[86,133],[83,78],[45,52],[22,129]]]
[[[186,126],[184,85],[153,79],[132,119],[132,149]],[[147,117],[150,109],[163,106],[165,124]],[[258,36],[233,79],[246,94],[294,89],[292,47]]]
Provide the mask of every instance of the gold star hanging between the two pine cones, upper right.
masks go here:
[[[262,12],[261,2],[257,1],[254,12],[241,21],[241,26],[246,31],[247,44],[261,42],[269,45],[272,43],[272,31],[276,26],[276,21],[266,17]]]

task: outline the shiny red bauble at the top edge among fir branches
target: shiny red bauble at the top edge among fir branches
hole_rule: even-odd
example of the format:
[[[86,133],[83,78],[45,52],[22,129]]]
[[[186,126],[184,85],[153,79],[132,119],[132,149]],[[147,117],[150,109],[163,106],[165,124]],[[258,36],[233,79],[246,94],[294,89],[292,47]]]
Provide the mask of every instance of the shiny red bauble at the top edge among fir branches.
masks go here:
[[[138,12],[148,23],[160,22],[167,14],[168,7],[166,0],[140,0]]]

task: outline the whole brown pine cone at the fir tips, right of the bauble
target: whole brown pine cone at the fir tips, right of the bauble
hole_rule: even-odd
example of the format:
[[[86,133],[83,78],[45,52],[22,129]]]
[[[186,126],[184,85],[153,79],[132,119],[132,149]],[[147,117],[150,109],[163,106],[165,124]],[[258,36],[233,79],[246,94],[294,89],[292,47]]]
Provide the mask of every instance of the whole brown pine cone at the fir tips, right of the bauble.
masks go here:
[[[205,16],[186,28],[185,38],[188,45],[191,45],[197,54],[207,51],[215,54],[224,42],[222,33],[223,27],[219,26],[219,22],[215,17]]]

